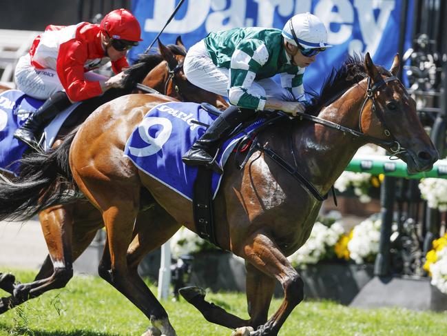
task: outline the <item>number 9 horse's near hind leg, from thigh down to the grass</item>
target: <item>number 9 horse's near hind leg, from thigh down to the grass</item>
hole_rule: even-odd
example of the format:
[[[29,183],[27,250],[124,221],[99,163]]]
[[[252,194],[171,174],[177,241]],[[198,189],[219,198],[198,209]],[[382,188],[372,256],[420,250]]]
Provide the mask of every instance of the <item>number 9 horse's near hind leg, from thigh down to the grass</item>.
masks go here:
[[[110,184],[110,181],[98,181],[98,179],[82,179],[79,175],[76,178],[76,170],[74,170],[74,177],[84,195],[103,214],[110,253],[110,271],[105,270],[108,267],[102,268],[100,275],[105,276],[106,280],[125,295],[149,320],[167,319],[166,310],[160,302],[155,297],[148,296],[147,289],[142,290],[141,286],[134,284],[134,277],[130,275],[127,266],[127,249],[132,242],[134,221],[139,208],[138,177],[135,179],[127,177],[113,184]],[[101,261],[103,265],[107,264],[108,257],[109,255],[103,257]],[[175,336],[174,328],[167,330],[165,335]]]

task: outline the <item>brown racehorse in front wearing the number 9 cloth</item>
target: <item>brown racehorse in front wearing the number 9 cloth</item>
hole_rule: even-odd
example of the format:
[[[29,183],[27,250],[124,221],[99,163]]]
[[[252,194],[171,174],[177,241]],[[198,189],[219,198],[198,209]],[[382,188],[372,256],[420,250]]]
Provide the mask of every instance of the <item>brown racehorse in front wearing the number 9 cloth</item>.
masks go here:
[[[437,151],[417,119],[415,102],[395,77],[398,70],[397,56],[390,72],[376,67],[368,54],[364,61],[349,59],[326,81],[319,99],[308,108],[324,121],[284,118],[261,130],[258,143],[289,162],[322,195],[356,150],[368,142],[395,152],[406,161],[410,172],[430,170]],[[64,194],[67,187],[58,183],[61,179],[56,179],[53,172],[57,169],[67,179],[71,173],[103,216],[110,272],[102,276],[152,322],[147,335],[156,332],[172,336],[176,333],[167,313],[138,277],[136,266],[148,250],[158,248],[181,225],[195,230],[192,204],[123,156],[129,135],[147,110],[167,100],[128,95],[98,108],[76,135],[53,152],[35,157],[35,167],[30,162],[19,183],[0,184],[0,201],[6,205],[0,209],[0,219],[16,213],[17,204],[8,207],[14,198],[21,198],[28,214],[32,214],[42,202],[59,201],[45,197],[48,188],[52,195],[52,188],[59,188],[60,199],[68,197]],[[186,288],[182,293],[209,322],[239,328],[237,335],[277,335],[302,301],[303,281],[287,256],[309,237],[322,204],[267,152],[254,152],[242,170],[236,169],[234,158],[230,158],[214,200],[218,244],[246,261],[250,318],[240,319],[209,304],[198,288]],[[66,167],[68,157],[70,168]],[[48,171],[39,172],[42,167]],[[138,234],[133,236],[134,221],[141,215],[143,187],[151,192],[156,206],[146,213],[144,226],[143,222],[137,224]],[[30,195],[36,193],[40,199],[30,202]],[[275,279],[284,289],[284,301],[268,319]]]

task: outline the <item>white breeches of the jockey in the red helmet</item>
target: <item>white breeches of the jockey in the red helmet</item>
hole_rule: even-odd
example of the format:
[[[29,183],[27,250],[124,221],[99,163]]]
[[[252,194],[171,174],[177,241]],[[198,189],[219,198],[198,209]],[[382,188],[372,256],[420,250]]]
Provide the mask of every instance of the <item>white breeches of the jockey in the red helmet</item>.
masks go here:
[[[87,81],[104,81],[108,78],[92,71],[85,72],[84,77]],[[56,70],[35,68],[29,54],[20,57],[17,62],[14,80],[17,89],[37,99],[48,99],[54,92],[65,91]]]

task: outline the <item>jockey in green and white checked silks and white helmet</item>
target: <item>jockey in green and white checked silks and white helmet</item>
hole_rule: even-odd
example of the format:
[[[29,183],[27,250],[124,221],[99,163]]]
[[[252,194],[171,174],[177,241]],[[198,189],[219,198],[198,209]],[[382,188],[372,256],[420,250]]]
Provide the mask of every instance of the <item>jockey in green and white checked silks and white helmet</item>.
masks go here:
[[[185,164],[222,172],[211,148],[256,110],[304,111],[303,75],[319,52],[330,47],[324,24],[297,14],[283,30],[234,28],[211,32],[187,52],[184,70],[196,86],[228,97],[231,106],[183,156]],[[280,74],[281,84],[271,77]]]

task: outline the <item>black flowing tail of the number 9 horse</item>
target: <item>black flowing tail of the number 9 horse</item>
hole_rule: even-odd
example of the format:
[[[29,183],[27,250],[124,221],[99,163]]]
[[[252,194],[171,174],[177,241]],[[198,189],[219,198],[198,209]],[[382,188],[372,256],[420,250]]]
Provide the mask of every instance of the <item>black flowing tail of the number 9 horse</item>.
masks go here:
[[[76,130],[60,146],[23,157],[19,177],[0,179],[0,220],[30,219],[45,208],[79,198],[68,162],[74,135]]]

